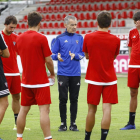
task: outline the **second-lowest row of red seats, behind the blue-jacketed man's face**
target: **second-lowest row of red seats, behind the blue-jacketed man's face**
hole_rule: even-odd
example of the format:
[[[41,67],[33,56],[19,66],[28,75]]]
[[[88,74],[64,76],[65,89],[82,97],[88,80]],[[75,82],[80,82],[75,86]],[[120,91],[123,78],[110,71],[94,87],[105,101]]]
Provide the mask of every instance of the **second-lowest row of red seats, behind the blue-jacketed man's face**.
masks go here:
[[[90,22],[78,22],[77,24],[77,28],[93,28],[93,27],[97,27],[97,21],[90,21]],[[125,20],[120,20],[120,21],[112,21],[112,27],[125,27]],[[28,25],[27,24],[17,24],[17,28],[16,29],[27,29]],[[64,27],[64,23],[63,22],[55,22],[55,23],[42,23],[41,24],[41,29],[52,29],[52,28],[65,28]]]

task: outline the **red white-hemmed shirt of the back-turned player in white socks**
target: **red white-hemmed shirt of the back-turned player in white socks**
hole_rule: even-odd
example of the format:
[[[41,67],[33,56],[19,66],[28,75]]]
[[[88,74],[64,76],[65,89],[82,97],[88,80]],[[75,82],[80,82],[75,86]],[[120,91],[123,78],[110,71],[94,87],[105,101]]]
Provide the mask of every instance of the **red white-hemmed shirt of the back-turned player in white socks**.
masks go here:
[[[51,50],[45,35],[36,31],[26,31],[17,37],[17,52],[23,68],[21,86],[38,88],[49,86],[45,57]]]

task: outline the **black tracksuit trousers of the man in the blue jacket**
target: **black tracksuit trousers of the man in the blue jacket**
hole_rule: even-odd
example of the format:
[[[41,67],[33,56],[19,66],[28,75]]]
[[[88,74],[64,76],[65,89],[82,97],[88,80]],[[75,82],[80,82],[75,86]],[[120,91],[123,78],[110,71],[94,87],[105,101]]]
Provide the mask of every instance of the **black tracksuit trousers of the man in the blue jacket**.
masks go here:
[[[80,90],[81,76],[57,76],[59,90],[59,111],[61,122],[66,123],[68,91],[70,99],[70,119],[75,122],[78,108],[78,96]]]

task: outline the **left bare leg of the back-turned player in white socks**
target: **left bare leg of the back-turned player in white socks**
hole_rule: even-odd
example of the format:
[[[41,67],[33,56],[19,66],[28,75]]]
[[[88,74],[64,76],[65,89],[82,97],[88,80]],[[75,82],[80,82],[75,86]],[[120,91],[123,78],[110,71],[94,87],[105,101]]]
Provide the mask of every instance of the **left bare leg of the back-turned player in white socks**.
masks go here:
[[[17,133],[23,134],[25,123],[26,123],[26,116],[30,110],[30,106],[21,106],[18,118],[17,118]]]

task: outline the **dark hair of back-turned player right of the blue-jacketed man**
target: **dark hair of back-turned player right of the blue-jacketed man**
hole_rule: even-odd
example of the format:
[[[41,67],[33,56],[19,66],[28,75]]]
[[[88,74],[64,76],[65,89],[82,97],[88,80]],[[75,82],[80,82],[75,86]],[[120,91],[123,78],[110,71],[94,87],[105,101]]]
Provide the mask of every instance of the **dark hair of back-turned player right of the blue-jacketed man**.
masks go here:
[[[107,11],[102,11],[98,14],[97,21],[100,28],[108,28],[111,24],[111,14]]]

